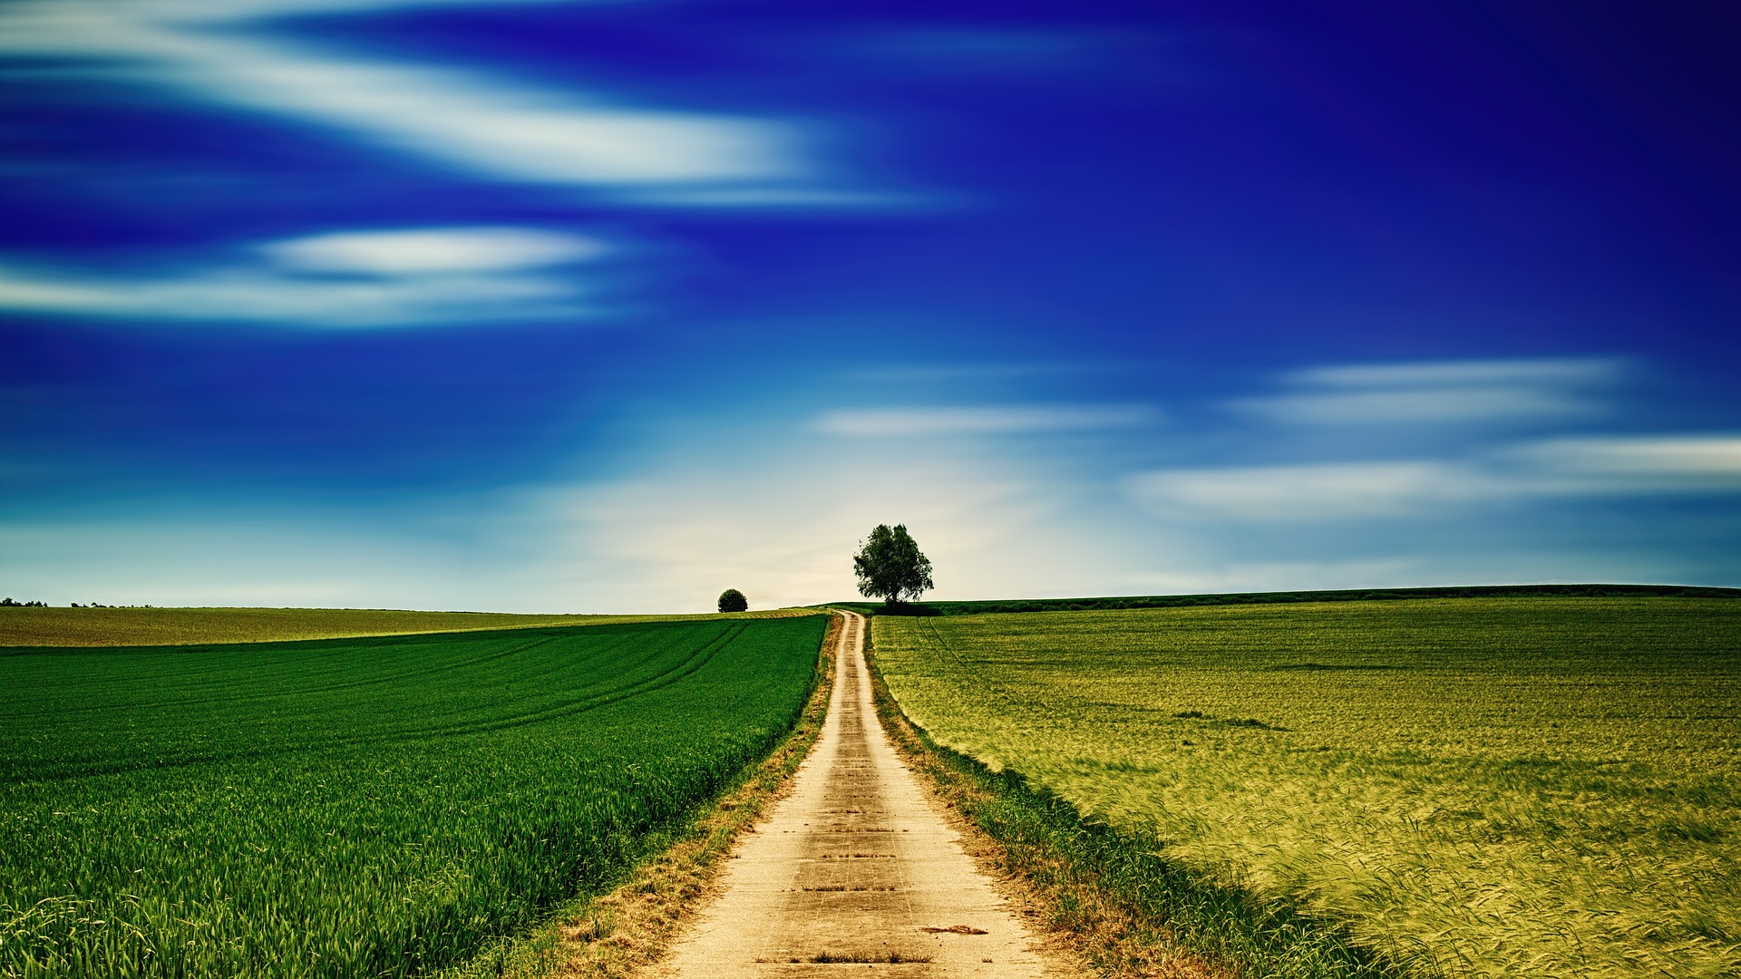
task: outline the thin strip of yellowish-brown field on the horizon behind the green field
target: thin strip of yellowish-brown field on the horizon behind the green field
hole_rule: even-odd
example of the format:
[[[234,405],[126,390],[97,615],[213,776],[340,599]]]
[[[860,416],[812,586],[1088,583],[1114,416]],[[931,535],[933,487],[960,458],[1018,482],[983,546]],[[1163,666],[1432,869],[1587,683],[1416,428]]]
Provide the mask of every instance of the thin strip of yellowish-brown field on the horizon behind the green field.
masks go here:
[[[813,608],[698,615],[514,615],[392,608],[0,608],[0,646],[186,646],[284,643],[536,625],[615,625],[817,615]]]

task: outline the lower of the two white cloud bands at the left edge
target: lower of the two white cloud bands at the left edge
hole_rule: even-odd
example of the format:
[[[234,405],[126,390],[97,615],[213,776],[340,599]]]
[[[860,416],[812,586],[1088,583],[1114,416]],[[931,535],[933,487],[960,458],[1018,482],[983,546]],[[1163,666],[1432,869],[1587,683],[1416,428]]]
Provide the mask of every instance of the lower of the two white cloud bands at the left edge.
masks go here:
[[[413,228],[265,242],[198,272],[0,265],[0,310],[308,327],[583,315],[592,284],[571,267],[606,251],[529,228]]]

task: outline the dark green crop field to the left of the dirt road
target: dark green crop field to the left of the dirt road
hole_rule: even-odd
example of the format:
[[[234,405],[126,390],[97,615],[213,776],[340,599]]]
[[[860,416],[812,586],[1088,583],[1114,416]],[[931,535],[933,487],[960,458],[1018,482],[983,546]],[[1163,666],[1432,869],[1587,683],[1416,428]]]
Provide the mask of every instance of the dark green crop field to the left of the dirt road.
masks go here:
[[[0,976],[461,962],[763,756],[823,627],[3,650]]]

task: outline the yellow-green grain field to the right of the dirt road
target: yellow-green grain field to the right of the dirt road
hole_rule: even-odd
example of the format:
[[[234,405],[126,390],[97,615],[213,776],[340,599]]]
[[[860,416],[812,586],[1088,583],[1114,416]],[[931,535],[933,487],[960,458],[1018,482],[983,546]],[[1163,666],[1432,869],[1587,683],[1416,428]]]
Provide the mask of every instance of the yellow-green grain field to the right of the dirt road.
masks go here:
[[[937,740],[1449,976],[1741,974],[1741,601],[876,618]]]

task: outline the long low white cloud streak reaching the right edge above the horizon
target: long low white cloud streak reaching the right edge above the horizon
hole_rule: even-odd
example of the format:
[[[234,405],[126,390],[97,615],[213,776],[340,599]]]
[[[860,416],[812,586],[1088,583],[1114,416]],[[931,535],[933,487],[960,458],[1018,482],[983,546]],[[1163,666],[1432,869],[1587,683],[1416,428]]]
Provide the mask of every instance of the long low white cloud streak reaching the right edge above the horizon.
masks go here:
[[[1447,514],[1530,498],[1741,491],[1738,435],[1626,435],[1511,446],[1480,460],[1172,469],[1132,476],[1151,514],[1313,523]]]

